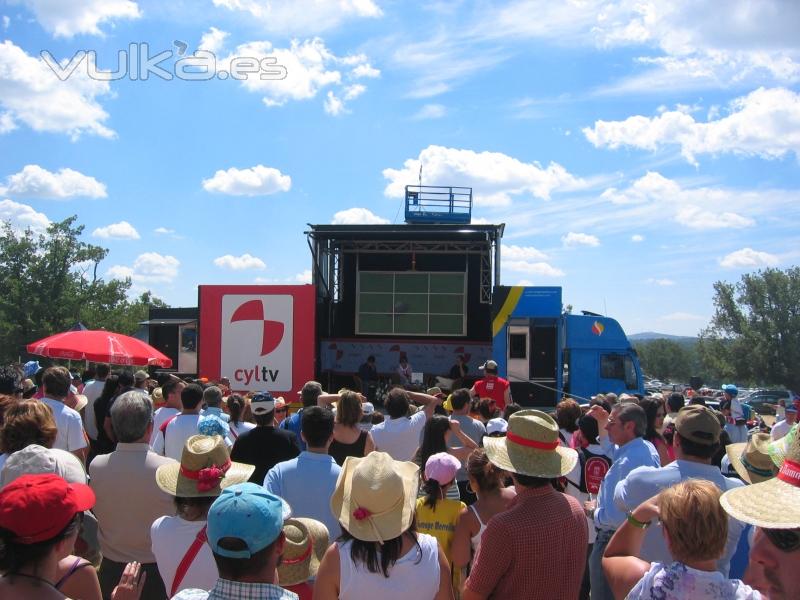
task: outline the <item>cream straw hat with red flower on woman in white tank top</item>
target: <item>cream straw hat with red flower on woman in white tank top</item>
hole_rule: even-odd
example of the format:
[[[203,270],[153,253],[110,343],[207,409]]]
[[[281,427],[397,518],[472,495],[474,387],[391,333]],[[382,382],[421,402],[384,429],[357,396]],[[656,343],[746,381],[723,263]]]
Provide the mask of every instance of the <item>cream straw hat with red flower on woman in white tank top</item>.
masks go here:
[[[348,456],[331,510],[350,535],[364,542],[399,537],[411,527],[419,486],[419,467],[393,460],[385,452]]]

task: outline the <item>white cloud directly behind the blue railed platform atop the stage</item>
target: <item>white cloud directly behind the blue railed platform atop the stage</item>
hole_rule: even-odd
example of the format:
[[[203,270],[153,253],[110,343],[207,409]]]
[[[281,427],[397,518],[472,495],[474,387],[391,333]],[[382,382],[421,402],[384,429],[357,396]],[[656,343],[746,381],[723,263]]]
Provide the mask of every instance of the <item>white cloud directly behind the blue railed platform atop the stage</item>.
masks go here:
[[[405,197],[405,186],[415,183],[422,165],[424,185],[471,187],[478,206],[507,206],[512,197],[534,196],[549,199],[554,191],[574,190],[583,184],[558,163],[543,168],[537,162],[525,163],[500,152],[475,152],[443,146],[428,146],[417,158],[409,158],[402,169],[384,169],[389,180],[384,194]]]

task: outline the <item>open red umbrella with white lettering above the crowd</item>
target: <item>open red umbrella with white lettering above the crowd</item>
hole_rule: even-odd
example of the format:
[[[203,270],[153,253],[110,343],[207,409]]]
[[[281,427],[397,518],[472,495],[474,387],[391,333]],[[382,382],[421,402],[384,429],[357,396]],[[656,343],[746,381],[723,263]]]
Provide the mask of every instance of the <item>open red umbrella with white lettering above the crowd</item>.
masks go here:
[[[172,360],[150,344],[102,329],[57,333],[28,344],[28,352],[48,358],[90,360],[112,365],[172,366]]]

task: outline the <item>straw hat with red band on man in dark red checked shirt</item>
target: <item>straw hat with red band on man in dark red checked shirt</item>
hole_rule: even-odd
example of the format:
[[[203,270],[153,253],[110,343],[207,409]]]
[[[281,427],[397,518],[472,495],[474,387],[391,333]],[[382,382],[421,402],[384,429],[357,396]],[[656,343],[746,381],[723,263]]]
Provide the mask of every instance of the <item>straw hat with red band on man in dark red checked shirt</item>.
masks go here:
[[[520,475],[555,478],[569,473],[578,461],[572,448],[560,446],[558,423],[539,410],[520,410],[508,420],[505,437],[485,437],[489,460]]]

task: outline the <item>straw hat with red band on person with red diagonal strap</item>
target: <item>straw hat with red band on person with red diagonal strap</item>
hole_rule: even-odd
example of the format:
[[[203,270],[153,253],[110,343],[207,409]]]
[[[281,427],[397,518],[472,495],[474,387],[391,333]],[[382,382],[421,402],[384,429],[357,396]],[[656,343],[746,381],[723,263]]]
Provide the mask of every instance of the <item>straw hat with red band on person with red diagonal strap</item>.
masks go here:
[[[247,481],[255,469],[231,462],[221,436],[193,435],[186,440],[180,464],[158,467],[156,483],[170,496],[219,496],[224,488]]]

